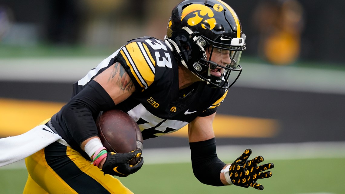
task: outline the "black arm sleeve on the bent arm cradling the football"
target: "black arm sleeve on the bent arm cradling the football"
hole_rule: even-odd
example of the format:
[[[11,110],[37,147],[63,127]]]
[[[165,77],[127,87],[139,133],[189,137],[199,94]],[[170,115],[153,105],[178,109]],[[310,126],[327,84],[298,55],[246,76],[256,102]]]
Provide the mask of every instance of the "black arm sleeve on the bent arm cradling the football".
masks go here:
[[[63,107],[62,117],[73,139],[80,144],[89,137],[98,136],[95,120],[100,111],[115,107],[103,87],[91,81]]]

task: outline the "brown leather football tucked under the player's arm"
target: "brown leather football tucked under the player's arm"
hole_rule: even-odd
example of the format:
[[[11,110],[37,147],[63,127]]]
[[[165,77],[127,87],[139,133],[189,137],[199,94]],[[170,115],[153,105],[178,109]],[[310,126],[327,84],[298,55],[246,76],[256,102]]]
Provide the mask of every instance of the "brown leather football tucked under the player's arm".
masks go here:
[[[142,135],[138,124],[121,110],[102,111],[97,117],[96,125],[99,138],[108,152],[128,153],[135,149],[142,150]],[[129,161],[135,165],[140,157]]]

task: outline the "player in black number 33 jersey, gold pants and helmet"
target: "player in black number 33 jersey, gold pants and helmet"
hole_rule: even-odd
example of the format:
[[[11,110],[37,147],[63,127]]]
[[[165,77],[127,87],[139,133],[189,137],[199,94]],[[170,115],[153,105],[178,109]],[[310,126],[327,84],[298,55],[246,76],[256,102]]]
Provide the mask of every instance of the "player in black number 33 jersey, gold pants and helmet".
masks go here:
[[[261,156],[249,160],[250,149],[225,164],[212,128],[217,107],[242,71],[245,40],[237,14],[223,1],[179,3],[164,40],[130,40],[73,85],[70,101],[45,122],[62,139],[26,158],[24,193],[132,193],[111,175],[135,173],[144,159],[129,165],[140,149],[114,154],[103,147],[95,119],[110,109],[134,118],[144,139],[188,125],[193,172],[201,183],[262,190],[256,181],[272,176],[266,170],[273,164],[258,165]]]

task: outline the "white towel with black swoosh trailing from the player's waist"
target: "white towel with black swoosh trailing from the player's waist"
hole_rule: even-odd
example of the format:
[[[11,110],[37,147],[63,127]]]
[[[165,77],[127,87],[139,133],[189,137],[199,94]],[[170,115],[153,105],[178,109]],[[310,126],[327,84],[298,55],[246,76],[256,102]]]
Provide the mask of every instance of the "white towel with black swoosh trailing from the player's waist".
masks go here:
[[[39,125],[28,132],[0,139],[0,167],[20,161],[49,144],[61,139],[46,125]]]

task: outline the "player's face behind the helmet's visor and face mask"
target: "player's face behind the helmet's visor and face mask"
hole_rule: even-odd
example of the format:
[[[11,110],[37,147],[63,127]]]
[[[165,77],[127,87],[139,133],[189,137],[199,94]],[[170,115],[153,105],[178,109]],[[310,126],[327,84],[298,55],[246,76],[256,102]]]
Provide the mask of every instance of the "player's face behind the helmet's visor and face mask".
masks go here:
[[[212,52],[212,55],[211,55]],[[221,77],[224,73],[225,69],[221,67],[229,67],[231,64],[231,52],[230,50],[220,49],[220,48],[213,48],[210,46],[206,49],[207,58],[213,62],[215,62],[218,66],[215,69],[211,69],[210,74]],[[210,58],[211,57],[211,58]]]

